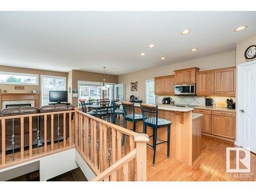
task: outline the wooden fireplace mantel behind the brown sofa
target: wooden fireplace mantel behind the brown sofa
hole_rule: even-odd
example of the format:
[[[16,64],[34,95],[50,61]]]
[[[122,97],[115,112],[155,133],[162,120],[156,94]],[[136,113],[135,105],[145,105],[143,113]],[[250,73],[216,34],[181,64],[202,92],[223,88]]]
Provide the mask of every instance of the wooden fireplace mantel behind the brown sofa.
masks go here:
[[[2,109],[2,101],[11,100],[34,100],[35,107],[38,107],[38,97],[40,93],[0,93],[0,110]]]

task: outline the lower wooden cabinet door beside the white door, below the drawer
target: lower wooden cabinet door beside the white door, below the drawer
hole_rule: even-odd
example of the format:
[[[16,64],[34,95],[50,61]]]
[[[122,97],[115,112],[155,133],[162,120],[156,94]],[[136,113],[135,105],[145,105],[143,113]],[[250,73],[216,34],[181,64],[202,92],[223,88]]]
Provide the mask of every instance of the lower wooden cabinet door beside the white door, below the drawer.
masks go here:
[[[212,135],[235,139],[235,118],[212,116]]]

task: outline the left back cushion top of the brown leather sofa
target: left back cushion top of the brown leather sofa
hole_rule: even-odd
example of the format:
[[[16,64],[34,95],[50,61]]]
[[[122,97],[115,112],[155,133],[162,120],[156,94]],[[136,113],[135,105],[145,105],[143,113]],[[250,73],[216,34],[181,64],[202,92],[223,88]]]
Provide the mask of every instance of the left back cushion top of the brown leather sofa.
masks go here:
[[[23,106],[21,108],[5,108],[0,112],[0,116],[24,115],[38,113],[34,106]]]

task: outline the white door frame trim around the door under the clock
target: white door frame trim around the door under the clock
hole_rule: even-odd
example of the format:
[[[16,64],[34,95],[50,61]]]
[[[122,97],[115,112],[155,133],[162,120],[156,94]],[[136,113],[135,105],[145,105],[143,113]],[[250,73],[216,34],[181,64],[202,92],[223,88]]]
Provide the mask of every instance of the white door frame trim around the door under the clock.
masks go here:
[[[237,92],[236,92],[236,140],[234,141],[234,144],[237,146],[240,145],[240,127],[238,126],[240,123],[240,113],[239,113],[239,108],[240,108],[240,102],[239,102],[239,92],[240,92],[240,70],[241,67],[248,66],[248,65],[253,65],[256,64],[256,60],[248,61],[241,63],[240,65],[237,66]]]

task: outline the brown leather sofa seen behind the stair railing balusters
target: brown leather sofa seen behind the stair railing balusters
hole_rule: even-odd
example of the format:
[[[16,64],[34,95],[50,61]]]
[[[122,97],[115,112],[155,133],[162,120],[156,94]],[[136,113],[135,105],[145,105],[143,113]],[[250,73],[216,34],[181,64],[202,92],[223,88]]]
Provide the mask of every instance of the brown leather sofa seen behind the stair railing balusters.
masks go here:
[[[39,109],[31,106],[25,106],[21,108],[6,108],[0,111],[0,117],[3,116],[14,116],[14,115],[27,115],[36,113],[50,113],[57,111],[72,111],[75,106],[66,104],[56,104],[56,105],[45,105],[41,106]],[[71,119],[74,119],[74,113],[72,113]],[[38,123],[39,120],[39,123]],[[37,145],[37,126],[39,125],[40,140],[39,144],[44,143],[44,116],[39,116],[39,118],[32,118],[32,144]],[[59,140],[63,139],[63,114],[59,114],[59,127],[60,134]],[[6,120],[6,151],[12,150],[12,134],[13,134],[13,120]],[[58,140],[58,115],[54,115],[54,141]],[[69,114],[66,115],[66,138],[69,137]],[[14,118],[14,138],[15,145],[14,149],[18,150],[20,148],[20,118]],[[47,141],[51,141],[51,115],[47,115]],[[29,118],[24,118],[24,146],[29,146]],[[0,153],[2,152],[2,121],[0,120]]]

